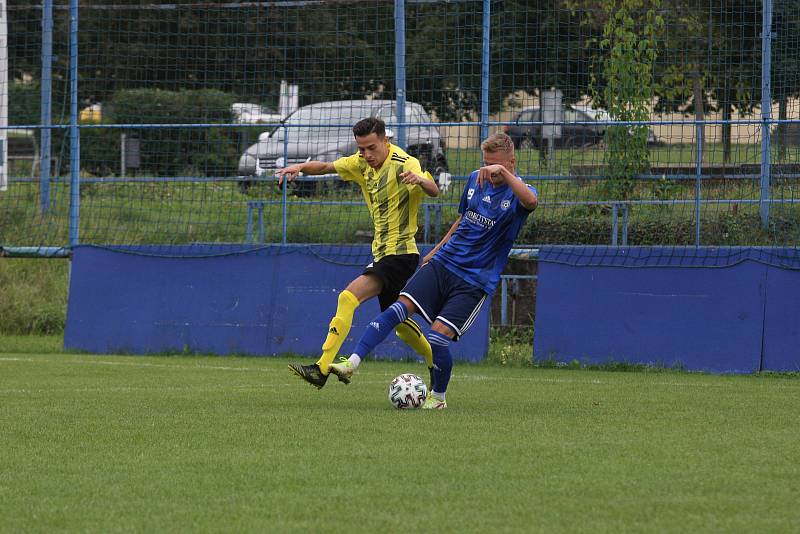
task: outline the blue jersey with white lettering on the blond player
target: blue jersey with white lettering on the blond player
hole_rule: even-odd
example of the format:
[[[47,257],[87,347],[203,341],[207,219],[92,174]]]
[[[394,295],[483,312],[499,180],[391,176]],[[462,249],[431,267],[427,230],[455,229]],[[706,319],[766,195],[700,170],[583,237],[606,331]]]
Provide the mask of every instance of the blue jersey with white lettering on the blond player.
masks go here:
[[[533,186],[528,188],[536,193]],[[495,187],[487,180],[479,187],[475,171],[461,194],[458,212],[461,222],[433,259],[491,294],[530,211],[507,184]]]

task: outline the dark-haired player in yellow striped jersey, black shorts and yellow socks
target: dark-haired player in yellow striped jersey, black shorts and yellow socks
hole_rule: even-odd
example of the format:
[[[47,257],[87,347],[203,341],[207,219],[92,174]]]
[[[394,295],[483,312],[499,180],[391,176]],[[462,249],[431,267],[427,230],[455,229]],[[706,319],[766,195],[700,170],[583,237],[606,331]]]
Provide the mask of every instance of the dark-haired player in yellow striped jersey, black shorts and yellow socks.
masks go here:
[[[419,263],[414,241],[419,205],[425,195],[439,194],[436,182],[430,174],[423,174],[417,158],[389,143],[382,120],[370,117],[358,121],[353,126],[353,135],[358,152],[352,156],[333,163],[306,161],[275,172],[279,183],[283,183],[284,178],[291,181],[300,173],[338,173],[342,180],[356,182],[361,186],[375,225],[373,261],[339,294],[336,315],[331,319],[328,336],[322,344],[322,356],[311,365],[289,365],[292,372],[318,389],[328,380],[331,363],[350,332],[356,308],[377,296],[381,311],[385,310],[397,300],[400,290],[414,274]],[[419,326],[409,318],[400,323],[395,332],[425,358],[432,373],[431,346]],[[339,380],[345,384],[350,382],[349,376],[339,376]]]

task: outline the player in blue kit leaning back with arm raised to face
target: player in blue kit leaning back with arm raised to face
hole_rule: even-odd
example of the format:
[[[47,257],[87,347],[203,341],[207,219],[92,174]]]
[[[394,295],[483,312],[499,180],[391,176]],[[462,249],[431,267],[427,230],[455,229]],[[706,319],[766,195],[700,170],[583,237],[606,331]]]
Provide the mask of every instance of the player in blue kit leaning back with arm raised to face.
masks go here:
[[[397,301],[375,317],[349,359],[330,370],[349,380],[361,360],[414,313],[431,324],[433,384],[423,409],[447,407],[453,357],[450,343],[472,325],[491,295],[528,215],[536,209],[536,189],[516,175],[514,143],[504,133],[481,143],[484,166],[474,171],[461,194],[459,217],[409,279]]]

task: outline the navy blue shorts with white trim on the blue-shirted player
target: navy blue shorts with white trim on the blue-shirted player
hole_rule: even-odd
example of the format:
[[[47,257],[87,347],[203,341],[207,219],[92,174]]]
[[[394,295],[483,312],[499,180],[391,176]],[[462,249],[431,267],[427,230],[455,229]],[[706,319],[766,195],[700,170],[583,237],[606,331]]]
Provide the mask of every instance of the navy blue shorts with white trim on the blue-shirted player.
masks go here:
[[[453,330],[458,339],[472,326],[486,292],[431,260],[414,273],[400,292],[417,307],[428,323],[439,320]]]

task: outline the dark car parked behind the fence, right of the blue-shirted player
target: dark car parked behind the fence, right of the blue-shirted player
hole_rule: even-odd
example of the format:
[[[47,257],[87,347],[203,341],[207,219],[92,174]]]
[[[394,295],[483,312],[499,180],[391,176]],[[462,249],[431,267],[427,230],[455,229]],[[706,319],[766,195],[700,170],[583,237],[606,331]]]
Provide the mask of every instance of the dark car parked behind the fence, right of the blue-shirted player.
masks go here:
[[[525,108],[514,117],[514,124],[505,127],[506,133],[514,141],[516,148],[537,148],[542,141],[541,125],[519,124],[541,120],[539,108]],[[556,148],[579,148],[592,146],[603,140],[606,125],[601,121],[609,120],[603,110],[592,108],[564,108],[564,120],[561,125],[561,136],[553,139]],[[585,123],[585,124],[583,124]],[[546,141],[545,141],[546,142]],[[656,144],[652,130],[648,132],[647,143]]]

